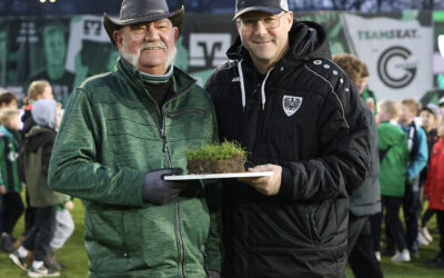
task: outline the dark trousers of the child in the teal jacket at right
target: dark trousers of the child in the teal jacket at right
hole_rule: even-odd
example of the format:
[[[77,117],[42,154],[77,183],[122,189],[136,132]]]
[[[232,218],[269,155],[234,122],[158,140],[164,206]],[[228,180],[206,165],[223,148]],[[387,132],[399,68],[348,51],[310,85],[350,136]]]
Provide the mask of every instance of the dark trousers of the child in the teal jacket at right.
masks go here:
[[[413,183],[405,182],[403,211],[405,221],[405,239],[410,250],[417,250],[417,234],[420,219],[420,187],[417,179]]]

